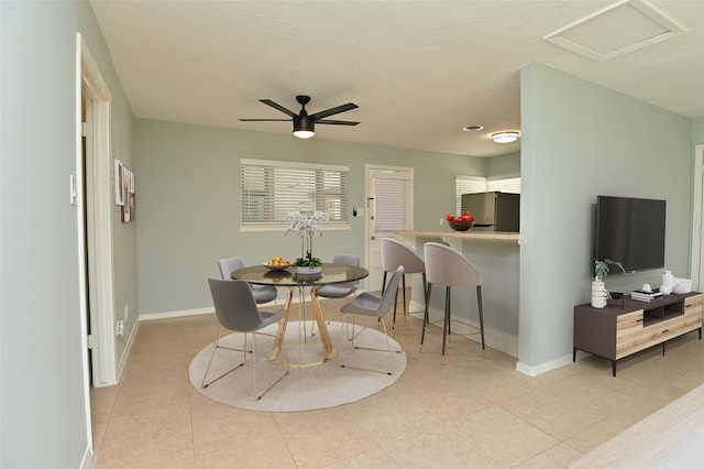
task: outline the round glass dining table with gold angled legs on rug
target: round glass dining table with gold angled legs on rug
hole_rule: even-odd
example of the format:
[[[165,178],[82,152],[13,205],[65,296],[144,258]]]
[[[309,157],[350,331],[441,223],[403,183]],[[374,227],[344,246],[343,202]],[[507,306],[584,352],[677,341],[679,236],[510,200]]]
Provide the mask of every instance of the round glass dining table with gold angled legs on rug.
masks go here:
[[[268,359],[274,362],[278,362],[292,367],[310,367],[316,364],[322,364],[332,359],[334,356],[334,349],[332,348],[332,341],[330,340],[330,334],[328,332],[328,326],[324,321],[320,303],[318,302],[318,295],[316,291],[322,285],[329,285],[333,283],[345,283],[362,280],[369,275],[369,271],[358,265],[346,264],[332,264],[324,263],[319,273],[312,274],[298,274],[296,268],[289,266],[288,269],[272,270],[266,265],[252,265],[244,269],[239,269],[232,272],[233,280],[244,280],[249,283],[257,285],[274,285],[276,287],[287,287],[288,295],[286,297],[286,315],[279,323],[276,338],[274,339],[274,347],[270,352]],[[278,352],[284,346],[284,335],[286,334],[286,326],[289,320],[290,305],[293,303],[294,291],[298,291],[298,307],[299,307],[299,324],[302,320],[305,326],[305,295],[304,288],[310,287],[310,303],[316,316],[316,323],[318,324],[318,330],[320,331],[320,342],[322,346],[322,358],[312,362],[300,362],[300,352],[298,363],[283,362],[278,359]],[[302,340],[301,340],[302,339]],[[299,332],[299,347],[301,341],[307,340],[307,335]]]

